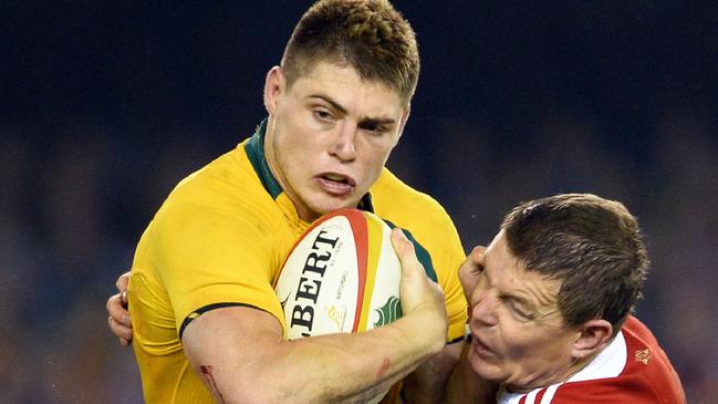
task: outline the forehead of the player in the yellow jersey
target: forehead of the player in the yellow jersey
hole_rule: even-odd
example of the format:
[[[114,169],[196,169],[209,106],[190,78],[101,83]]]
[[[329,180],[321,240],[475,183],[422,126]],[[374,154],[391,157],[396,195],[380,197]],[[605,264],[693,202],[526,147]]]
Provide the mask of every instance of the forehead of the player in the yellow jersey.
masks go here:
[[[406,106],[399,93],[382,81],[362,79],[351,65],[324,61],[313,63],[296,77],[290,91],[300,97],[329,96],[345,107],[381,106],[385,114],[400,114]]]

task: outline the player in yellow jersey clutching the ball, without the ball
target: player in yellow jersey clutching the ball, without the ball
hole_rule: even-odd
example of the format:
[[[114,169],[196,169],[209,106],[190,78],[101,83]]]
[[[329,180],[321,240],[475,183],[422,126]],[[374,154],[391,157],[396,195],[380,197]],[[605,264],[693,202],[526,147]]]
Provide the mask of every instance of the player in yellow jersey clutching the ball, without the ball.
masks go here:
[[[267,75],[269,117],[184,179],[143,234],[126,293],[132,330],[125,279],[108,300],[147,402],[365,402],[404,377],[406,402],[441,400],[459,350],[447,342],[466,323],[465,255],[440,205],[384,168],[418,71],[414,32],[387,1],[325,0],[302,17]],[[404,317],[287,341],[272,282],[309,224],[346,207],[416,241],[393,234]],[[398,402],[397,390],[384,402]]]

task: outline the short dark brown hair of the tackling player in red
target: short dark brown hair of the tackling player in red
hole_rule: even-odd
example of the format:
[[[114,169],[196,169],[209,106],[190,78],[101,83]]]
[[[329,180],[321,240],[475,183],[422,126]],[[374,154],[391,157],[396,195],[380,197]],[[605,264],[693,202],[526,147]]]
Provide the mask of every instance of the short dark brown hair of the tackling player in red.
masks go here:
[[[566,324],[604,319],[618,331],[648,269],[638,222],[623,204],[556,195],[521,204],[501,228],[527,270],[561,281],[559,310]]]

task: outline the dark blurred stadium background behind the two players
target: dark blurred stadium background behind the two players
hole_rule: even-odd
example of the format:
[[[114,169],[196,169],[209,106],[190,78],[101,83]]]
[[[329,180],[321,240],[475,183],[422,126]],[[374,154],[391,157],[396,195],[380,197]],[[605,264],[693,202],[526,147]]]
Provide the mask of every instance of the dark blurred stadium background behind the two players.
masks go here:
[[[642,220],[638,317],[718,397],[718,3],[396,1],[419,40],[388,166],[468,250],[518,201]],[[104,304],[174,185],[251,134],[309,1],[0,2],[0,402],[136,403]]]

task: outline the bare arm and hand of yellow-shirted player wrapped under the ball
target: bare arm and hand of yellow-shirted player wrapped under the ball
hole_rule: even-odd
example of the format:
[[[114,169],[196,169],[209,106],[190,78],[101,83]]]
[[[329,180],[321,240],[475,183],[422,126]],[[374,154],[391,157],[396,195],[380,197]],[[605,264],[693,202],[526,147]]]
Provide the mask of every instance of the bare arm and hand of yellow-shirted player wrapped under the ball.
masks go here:
[[[190,322],[185,353],[215,400],[366,402],[438,353],[447,327],[440,288],[426,278],[400,231],[392,240],[402,260],[406,313],[392,324],[287,341],[277,319],[252,308],[216,309]]]

